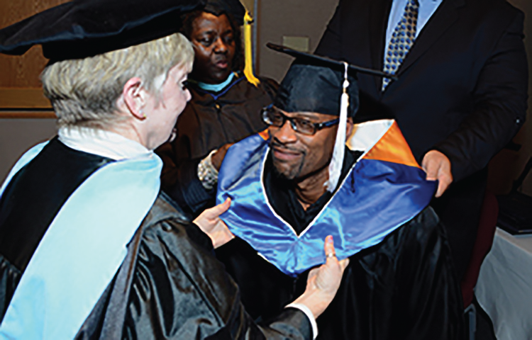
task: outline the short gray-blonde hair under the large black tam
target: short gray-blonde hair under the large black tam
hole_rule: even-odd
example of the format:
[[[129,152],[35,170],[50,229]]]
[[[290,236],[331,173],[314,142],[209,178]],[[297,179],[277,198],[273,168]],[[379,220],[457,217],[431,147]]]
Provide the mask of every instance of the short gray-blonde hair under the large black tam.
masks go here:
[[[143,87],[158,96],[175,65],[192,70],[194,50],[180,33],[140,45],[79,60],[64,60],[40,75],[59,127],[78,126],[108,130],[128,119],[117,114],[116,101],[123,86],[139,77]]]

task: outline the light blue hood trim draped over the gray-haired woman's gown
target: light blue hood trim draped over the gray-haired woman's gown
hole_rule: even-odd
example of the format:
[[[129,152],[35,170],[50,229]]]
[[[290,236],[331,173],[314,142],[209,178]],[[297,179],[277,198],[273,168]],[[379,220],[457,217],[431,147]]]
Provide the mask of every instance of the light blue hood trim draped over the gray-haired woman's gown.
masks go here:
[[[13,176],[42,151],[30,149]],[[126,257],[160,188],[155,154],[111,162],[67,199],[45,232],[0,324],[0,339],[72,339]]]

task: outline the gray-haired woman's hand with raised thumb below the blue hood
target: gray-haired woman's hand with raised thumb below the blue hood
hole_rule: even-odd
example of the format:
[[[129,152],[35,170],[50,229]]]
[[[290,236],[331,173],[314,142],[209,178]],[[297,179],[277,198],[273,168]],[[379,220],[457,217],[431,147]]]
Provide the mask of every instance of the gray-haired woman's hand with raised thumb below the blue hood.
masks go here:
[[[340,288],[343,271],[349,264],[349,259],[342,261],[336,259],[331,235],[326,237],[324,248],[326,263],[310,271],[309,278],[306,280],[305,292],[293,302],[309,307],[314,318],[321,315],[333,301],[338,288]]]

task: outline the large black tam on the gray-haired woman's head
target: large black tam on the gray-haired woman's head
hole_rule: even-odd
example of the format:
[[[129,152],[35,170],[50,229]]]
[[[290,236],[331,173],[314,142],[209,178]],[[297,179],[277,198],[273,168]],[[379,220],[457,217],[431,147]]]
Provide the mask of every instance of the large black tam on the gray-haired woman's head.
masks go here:
[[[0,52],[43,45],[52,62],[91,57],[178,32],[179,16],[205,0],[74,0],[0,30]]]

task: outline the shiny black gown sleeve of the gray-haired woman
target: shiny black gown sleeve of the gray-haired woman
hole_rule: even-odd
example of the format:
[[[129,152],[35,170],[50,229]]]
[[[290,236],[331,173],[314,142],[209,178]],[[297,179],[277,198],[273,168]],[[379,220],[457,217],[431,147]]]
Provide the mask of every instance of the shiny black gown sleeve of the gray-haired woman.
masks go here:
[[[172,220],[145,231],[133,275],[127,339],[311,339],[299,310],[255,324],[223,265]]]

